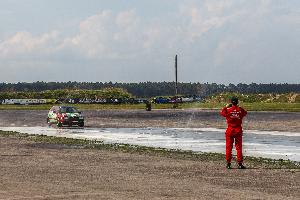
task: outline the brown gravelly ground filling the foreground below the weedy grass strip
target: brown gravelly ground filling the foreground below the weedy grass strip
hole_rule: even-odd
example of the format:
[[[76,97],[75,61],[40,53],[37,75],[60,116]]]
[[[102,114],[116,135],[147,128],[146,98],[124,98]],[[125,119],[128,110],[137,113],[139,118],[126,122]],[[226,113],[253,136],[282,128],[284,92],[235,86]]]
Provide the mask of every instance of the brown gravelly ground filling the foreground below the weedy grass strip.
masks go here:
[[[300,197],[295,170],[227,170],[218,161],[53,148],[15,137],[0,137],[0,151],[1,199]]]

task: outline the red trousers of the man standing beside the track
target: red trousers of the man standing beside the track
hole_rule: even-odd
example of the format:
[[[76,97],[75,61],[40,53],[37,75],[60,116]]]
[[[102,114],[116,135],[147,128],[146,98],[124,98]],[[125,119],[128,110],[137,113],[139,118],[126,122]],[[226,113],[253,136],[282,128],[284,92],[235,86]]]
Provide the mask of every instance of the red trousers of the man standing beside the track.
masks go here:
[[[232,159],[232,147],[233,142],[235,142],[235,149],[237,154],[237,162],[243,162],[243,152],[242,152],[242,144],[243,144],[243,129],[241,126],[231,127],[228,126],[225,132],[226,138],[226,160],[227,163],[231,163]]]

